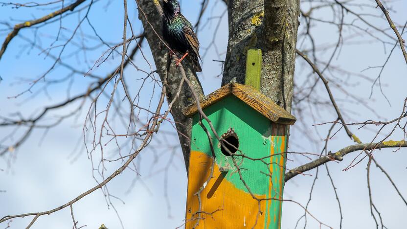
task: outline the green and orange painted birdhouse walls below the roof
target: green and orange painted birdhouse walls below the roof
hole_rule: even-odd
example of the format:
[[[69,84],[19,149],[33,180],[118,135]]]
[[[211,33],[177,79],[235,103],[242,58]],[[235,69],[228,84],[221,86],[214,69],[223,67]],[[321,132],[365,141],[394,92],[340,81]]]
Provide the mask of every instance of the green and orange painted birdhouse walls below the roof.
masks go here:
[[[242,175],[240,177],[232,157],[221,152],[219,140],[203,120],[213,140],[215,157],[212,157],[208,137],[196,114],[191,136],[186,228],[193,228],[199,223],[196,228],[280,229],[286,162],[285,154],[282,153],[286,152],[286,125],[271,122],[233,94],[206,107],[204,112],[219,135],[233,128],[239,138],[241,153],[252,159],[265,160],[235,156]],[[213,178],[206,183],[212,165]],[[222,173],[220,167],[227,167],[228,172]],[[241,178],[246,184],[243,184]],[[247,186],[256,198],[262,200],[260,206],[250,195]],[[201,189],[201,198],[198,199],[196,193]],[[197,211],[208,214],[202,213],[198,221]],[[259,216],[257,224],[255,216]]]

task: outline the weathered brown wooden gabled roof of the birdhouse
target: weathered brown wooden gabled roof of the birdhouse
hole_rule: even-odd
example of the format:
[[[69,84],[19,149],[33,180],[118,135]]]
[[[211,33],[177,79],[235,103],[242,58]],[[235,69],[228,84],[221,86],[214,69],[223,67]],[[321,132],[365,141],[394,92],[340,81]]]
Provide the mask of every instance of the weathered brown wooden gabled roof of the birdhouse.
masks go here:
[[[212,92],[200,100],[201,108],[211,106],[212,104],[222,100],[226,96],[233,94],[251,108],[262,114],[272,122],[293,125],[296,118],[278,106],[269,97],[265,96],[261,92],[257,91],[249,85],[229,83],[222,88]],[[182,110],[185,116],[192,117],[198,113],[198,107],[196,102],[185,107]]]

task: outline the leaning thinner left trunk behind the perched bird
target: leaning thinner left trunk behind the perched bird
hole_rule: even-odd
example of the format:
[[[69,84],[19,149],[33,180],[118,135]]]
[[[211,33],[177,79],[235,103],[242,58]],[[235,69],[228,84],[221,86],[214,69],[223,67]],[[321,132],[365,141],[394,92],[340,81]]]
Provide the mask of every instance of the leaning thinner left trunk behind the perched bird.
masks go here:
[[[157,67],[157,73],[161,80],[164,79],[165,75],[167,74],[166,71],[166,64],[167,64],[167,54],[168,49],[165,47],[157,37],[156,32],[160,37],[161,36],[161,14],[159,12],[159,8],[157,5],[154,4],[152,0],[139,0],[139,19],[143,23],[144,30],[147,35],[147,41],[150,45],[151,52],[153,53],[154,62]],[[140,10],[142,9],[142,11]],[[144,15],[144,13],[145,15]],[[147,20],[146,20],[147,17]],[[151,24],[151,25],[150,25]],[[154,30],[153,30],[153,28]],[[195,88],[195,92],[203,97],[204,92],[202,90],[202,86],[199,82],[199,79],[196,73],[193,71],[192,66],[189,65],[187,62],[182,62],[185,73],[188,79],[191,81],[192,85]],[[181,82],[181,73],[174,68],[174,65],[171,65],[169,76],[167,77],[167,101],[172,101],[173,96],[176,94],[178,86]],[[182,92],[179,98],[176,100],[174,105],[172,106],[171,115],[174,117],[174,121],[176,122],[176,128],[178,131],[178,137],[180,138],[181,149],[185,160],[185,166],[188,171],[188,164],[189,164],[189,151],[190,151],[190,142],[189,137],[191,136],[191,125],[192,119],[185,117],[181,110],[182,108],[186,107],[193,101],[192,94],[186,84],[183,85]]]

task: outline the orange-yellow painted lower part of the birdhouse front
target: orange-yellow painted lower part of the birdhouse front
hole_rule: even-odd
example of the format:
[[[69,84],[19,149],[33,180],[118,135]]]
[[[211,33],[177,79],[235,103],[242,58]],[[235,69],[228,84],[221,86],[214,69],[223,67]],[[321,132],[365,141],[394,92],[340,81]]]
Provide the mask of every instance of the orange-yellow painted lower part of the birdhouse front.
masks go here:
[[[188,194],[186,205],[186,229],[239,229],[239,228],[267,228],[265,220],[266,201],[260,202],[260,209],[256,223],[259,203],[248,192],[236,188],[233,183],[223,179],[217,184],[219,177],[225,176],[219,171],[215,163],[213,178],[205,184],[211,171],[212,157],[199,151],[191,151],[189,160]],[[226,174],[229,176],[230,174]],[[216,191],[210,194],[214,185]],[[200,188],[205,187],[200,198],[195,195]],[[266,195],[256,195],[256,198],[266,199]],[[202,208],[200,215],[199,204]],[[201,219],[198,220],[198,216]],[[198,223],[198,225],[197,225]],[[196,226],[197,225],[197,226]]]

